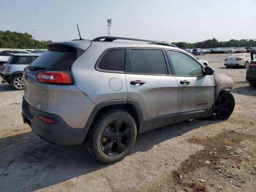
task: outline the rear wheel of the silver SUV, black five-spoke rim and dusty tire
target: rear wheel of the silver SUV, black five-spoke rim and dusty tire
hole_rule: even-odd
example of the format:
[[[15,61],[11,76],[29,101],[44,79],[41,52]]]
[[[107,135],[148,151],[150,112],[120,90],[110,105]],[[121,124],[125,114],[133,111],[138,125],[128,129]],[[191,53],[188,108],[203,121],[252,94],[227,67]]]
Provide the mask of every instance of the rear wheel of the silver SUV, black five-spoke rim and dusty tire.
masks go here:
[[[93,122],[87,136],[89,153],[104,163],[122,160],[134,146],[137,127],[126,111],[110,109]]]

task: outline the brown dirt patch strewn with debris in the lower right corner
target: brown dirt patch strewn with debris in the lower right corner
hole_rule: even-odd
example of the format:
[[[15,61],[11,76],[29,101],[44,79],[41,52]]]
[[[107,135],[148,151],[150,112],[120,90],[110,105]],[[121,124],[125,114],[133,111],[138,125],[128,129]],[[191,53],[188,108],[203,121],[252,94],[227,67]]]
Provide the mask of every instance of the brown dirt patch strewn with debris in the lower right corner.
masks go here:
[[[187,141],[204,146],[179,166],[189,180],[176,169],[144,191],[256,191],[256,156],[250,148],[256,146],[255,135],[225,130]]]

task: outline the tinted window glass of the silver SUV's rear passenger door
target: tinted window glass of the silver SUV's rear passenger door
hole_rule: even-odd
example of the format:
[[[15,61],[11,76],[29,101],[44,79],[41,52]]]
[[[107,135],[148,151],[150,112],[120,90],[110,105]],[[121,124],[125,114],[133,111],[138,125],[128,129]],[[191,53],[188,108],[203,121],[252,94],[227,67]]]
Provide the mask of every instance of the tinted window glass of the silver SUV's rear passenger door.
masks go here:
[[[131,49],[130,72],[144,74],[168,74],[162,50]]]

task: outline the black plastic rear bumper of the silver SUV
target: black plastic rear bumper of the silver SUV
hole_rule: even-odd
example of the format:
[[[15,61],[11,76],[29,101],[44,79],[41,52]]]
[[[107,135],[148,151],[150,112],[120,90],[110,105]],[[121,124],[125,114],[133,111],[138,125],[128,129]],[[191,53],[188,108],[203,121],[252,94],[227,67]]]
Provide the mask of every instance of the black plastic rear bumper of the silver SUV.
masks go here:
[[[48,124],[38,118],[39,115],[52,118],[55,124]],[[42,139],[59,145],[80,145],[88,132],[88,128],[70,128],[57,115],[42,112],[22,99],[22,118],[24,123],[31,126],[33,132]]]

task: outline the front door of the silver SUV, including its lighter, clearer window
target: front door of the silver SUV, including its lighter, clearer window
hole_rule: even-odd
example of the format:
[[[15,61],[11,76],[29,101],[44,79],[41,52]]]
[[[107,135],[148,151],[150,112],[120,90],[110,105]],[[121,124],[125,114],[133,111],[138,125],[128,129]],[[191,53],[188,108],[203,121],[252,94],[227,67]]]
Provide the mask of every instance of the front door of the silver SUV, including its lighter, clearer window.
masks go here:
[[[182,121],[203,116],[214,103],[214,82],[203,75],[203,67],[183,52],[166,50],[178,81],[178,117]]]

